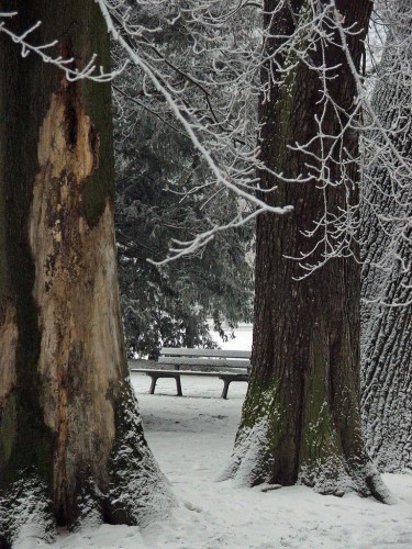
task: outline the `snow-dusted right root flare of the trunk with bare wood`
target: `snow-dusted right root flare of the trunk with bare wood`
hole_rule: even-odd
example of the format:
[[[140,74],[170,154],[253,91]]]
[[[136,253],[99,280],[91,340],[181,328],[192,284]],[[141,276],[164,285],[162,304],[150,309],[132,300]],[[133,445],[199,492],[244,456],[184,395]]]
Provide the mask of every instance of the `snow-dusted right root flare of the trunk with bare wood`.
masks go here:
[[[109,523],[146,526],[176,504],[144,438],[136,397],[125,383],[118,411],[118,440],[111,457]]]

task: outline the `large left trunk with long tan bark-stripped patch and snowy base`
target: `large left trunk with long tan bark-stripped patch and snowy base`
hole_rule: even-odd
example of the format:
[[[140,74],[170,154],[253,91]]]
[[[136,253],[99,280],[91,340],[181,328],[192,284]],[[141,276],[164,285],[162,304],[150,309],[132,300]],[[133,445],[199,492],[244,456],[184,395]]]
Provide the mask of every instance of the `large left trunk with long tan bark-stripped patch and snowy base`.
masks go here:
[[[110,65],[92,0],[0,1],[9,26]],[[0,36],[0,535],[142,524],[170,504],[127,378],[113,237],[110,85]]]

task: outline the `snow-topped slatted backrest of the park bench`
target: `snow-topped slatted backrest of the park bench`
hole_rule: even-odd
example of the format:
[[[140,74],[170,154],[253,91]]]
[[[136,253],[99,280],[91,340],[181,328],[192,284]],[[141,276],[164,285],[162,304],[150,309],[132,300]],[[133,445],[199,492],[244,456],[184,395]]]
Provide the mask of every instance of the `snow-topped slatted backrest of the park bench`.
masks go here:
[[[158,361],[168,365],[248,369],[250,367],[250,351],[164,347],[160,350]]]

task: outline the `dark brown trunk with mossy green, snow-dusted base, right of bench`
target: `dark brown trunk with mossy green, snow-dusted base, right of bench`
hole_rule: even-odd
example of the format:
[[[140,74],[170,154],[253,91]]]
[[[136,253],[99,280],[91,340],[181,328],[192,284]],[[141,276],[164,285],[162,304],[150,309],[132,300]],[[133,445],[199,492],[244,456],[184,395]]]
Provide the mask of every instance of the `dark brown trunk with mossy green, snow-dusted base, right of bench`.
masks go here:
[[[272,59],[263,68],[267,93],[259,112],[261,158],[275,173],[293,181],[308,178],[308,182],[283,182],[267,171],[260,177],[263,189],[278,188],[275,198],[265,194],[266,200],[292,204],[294,210],[257,221],[252,379],[232,462],[223,478],[248,485],[300,482],[320,493],[356,491],[382,500],[386,489],[367,457],[360,432],[358,265],[344,250],[344,257],[331,259],[298,281],[304,271],[286,257],[300,257],[315,247],[319,234],[305,237],[302,233],[313,231],[325,203],[333,238],[332,232],[339,228],[333,215],[357,200],[358,169],[352,160],[357,157],[357,135],[352,128],[343,130],[355,109],[355,81],[331,21],[323,23],[323,30],[332,33],[334,43],[326,45],[318,35],[310,48],[303,32],[296,42],[305,51],[308,64],[298,61],[290,48],[279,53],[286,38],[311,20],[312,8],[322,10],[327,2],[285,2],[271,16],[278,4],[265,2],[264,23],[270,33],[265,47]],[[371,3],[336,4],[341,21],[358,33],[347,36],[358,67]],[[325,72],[309,67],[323,64],[330,79],[322,80]],[[329,100],[322,96],[324,86]],[[315,116],[322,120],[322,114],[320,127]],[[297,143],[310,145],[305,152],[291,149]],[[323,242],[310,260],[322,264],[327,253]]]

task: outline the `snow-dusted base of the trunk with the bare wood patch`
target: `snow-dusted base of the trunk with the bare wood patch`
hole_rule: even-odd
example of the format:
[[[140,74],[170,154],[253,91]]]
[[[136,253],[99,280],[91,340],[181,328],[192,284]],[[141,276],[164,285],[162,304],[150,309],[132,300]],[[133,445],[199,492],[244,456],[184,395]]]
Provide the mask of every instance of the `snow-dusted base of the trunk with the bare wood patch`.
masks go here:
[[[136,397],[127,383],[120,390],[116,406],[116,441],[110,463],[110,485],[105,493],[85,469],[71,505],[70,524],[55,516],[46,483],[38,474],[22,471],[0,498],[0,549],[27,537],[53,541],[56,526],[69,530],[102,523],[144,527],[167,518],[177,505],[169,482],[160,472],[143,435]]]

